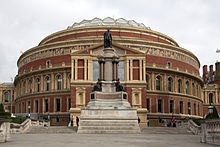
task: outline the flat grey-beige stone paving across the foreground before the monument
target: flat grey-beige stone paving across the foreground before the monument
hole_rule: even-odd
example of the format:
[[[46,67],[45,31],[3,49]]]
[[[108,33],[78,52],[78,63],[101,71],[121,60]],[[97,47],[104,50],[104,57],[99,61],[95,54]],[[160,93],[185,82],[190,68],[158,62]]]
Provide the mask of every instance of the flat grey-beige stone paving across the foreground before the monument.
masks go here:
[[[215,147],[176,128],[145,128],[141,134],[12,134],[0,147]]]

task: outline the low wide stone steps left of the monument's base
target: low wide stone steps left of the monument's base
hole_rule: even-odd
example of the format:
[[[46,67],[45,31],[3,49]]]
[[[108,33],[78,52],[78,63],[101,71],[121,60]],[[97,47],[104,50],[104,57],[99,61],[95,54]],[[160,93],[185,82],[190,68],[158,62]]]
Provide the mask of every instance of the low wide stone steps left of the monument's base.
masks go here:
[[[50,126],[50,127],[44,127],[44,126],[32,126],[27,132],[27,134],[70,134],[70,133],[76,133],[73,128],[69,128],[67,126]]]

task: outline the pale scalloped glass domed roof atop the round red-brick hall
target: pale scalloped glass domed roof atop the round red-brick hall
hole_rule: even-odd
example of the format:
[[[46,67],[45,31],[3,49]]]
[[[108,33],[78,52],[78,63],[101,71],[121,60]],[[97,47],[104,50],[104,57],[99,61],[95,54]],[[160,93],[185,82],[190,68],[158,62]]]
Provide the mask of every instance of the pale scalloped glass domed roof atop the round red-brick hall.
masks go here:
[[[94,18],[92,20],[83,20],[80,23],[74,23],[72,26],[68,26],[67,29],[82,27],[82,26],[102,26],[102,25],[115,25],[115,26],[130,26],[141,29],[148,29],[143,23],[137,23],[134,20],[126,20],[124,18],[114,19],[111,17],[106,17],[104,19]]]

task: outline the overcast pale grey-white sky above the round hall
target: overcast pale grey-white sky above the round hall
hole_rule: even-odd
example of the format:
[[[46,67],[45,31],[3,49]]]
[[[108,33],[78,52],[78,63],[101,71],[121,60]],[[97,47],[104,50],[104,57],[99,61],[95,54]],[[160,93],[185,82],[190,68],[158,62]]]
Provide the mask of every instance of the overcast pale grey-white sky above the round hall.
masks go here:
[[[0,82],[16,76],[22,52],[94,17],[144,23],[194,53],[200,68],[220,61],[220,0],[5,0],[0,5]]]

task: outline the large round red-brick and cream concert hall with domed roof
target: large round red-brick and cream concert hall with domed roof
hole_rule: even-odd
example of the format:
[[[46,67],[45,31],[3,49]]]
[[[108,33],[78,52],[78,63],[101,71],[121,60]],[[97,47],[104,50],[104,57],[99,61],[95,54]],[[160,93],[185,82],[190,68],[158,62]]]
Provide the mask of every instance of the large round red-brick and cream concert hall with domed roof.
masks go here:
[[[120,57],[118,77],[137,108],[140,125],[159,119],[202,118],[200,63],[169,36],[123,18],[94,18],[74,23],[44,38],[18,59],[16,114],[50,116],[51,125],[68,125],[99,77],[98,56],[104,32],[110,29],[112,47]]]

